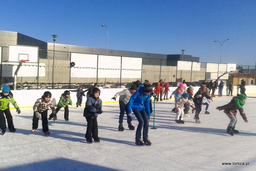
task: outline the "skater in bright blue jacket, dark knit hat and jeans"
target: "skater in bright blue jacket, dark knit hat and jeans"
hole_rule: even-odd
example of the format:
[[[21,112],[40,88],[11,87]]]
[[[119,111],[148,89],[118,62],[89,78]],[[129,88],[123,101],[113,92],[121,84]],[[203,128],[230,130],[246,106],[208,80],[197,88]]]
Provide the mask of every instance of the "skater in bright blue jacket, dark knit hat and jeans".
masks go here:
[[[139,125],[136,130],[136,143],[137,145],[151,145],[151,141],[148,139],[148,124],[151,120],[150,118],[150,109],[149,109],[149,100],[150,93],[152,92],[152,86],[146,82],[144,83],[144,87],[139,88],[136,92],[131,96],[127,110],[128,115],[132,116],[131,110],[133,110],[134,115],[139,121]],[[143,127],[143,141],[141,139],[141,131]]]

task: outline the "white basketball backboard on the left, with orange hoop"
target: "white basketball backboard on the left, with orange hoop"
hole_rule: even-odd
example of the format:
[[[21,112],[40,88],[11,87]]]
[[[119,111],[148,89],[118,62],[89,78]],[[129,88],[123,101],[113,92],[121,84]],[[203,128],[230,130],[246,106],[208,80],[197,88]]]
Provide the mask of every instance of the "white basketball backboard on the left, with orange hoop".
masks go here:
[[[8,62],[21,62],[21,60],[38,63],[38,47],[9,45]]]

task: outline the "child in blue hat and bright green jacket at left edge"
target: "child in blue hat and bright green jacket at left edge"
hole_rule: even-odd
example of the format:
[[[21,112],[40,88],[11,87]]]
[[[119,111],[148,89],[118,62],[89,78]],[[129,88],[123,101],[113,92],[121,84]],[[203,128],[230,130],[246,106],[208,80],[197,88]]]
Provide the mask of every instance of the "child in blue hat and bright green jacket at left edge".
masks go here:
[[[8,128],[10,132],[16,132],[16,129],[13,125],[12,114],[9,109],[10,102],[12,105],[17,109],[18,114],[20,114],[20,109],[18,104],[14,100],[13,96],[10,93],[10,88],[8,85],[3,86],[2,93],[0,93],[0,127],[2,129],[2,133],[5,134],[6,132],[6,121],[5,116],[8,123]],[[3,114],[5,113],[5,115]]]

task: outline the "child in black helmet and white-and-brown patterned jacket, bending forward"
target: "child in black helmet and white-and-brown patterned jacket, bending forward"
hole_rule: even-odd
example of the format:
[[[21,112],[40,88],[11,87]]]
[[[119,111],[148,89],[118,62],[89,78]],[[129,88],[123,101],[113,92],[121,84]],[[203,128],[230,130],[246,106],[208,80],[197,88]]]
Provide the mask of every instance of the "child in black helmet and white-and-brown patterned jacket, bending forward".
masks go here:
[[[45,135],[50,135],[49,127],[48,127],[48,118],[47,118],[47,111],[49,107],[52,109],[52,114],[56,115],[56,110],[52,101],[50,100],[52,97],[52,93],[49,91],[44,92],[41,98],[38,98],[33,106],[34,116],[33,116],[33,123],[32,123],[32,130],[31,132],[34,133],[35,130],[38,128],[39,118],[42,116],[42,126],[43,132]]]

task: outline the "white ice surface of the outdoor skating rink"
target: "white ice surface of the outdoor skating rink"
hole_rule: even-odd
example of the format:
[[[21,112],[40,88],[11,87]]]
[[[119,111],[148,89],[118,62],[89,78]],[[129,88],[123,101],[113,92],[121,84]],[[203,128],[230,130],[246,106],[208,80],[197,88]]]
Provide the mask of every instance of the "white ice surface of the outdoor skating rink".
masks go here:
[[[64,110],[58,120],[49,121],[50,136],[44,136],[41,120],[31,134],[33,111],[21,108],[18,115],[11,110],[16,133],[0,133],[0,171],[172,171],[256,170],[256,98],[248,98],[244,106],[249,123],[237,115],[239,135],[226,133],[229,118],[215,109],[228,103],[231,97],[216,97],[209,112],[200,114],[201,124],[194,115],[184,118],[185,124],[175,123],[170,112],[174,100],[155,103],[155,122],[150,121],[151,146],[137,146],[135,130],[129,130],[124,118],[124,132],[119,132],[119,104],[104,103],[104,113],[98,117],[100,143],[85,141],[86,121],[83,107],[70,106],[69,121],[64,121]],[[48,113],[49,115],[50,113]],[[133,116],[133,125],[137,120]],[[241,162],[245,165],[222,165],[222,162]]]

